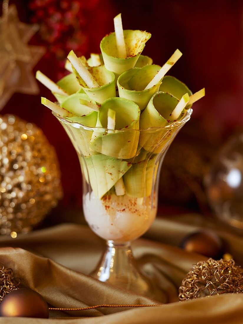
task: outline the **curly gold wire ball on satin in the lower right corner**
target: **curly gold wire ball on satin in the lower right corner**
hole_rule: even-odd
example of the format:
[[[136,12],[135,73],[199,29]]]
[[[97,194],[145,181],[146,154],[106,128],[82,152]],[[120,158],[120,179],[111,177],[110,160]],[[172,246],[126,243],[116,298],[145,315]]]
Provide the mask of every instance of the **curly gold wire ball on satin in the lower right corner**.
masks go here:
[[[243,272],[234,260],[208,259],[195,264],[179,288],[179,300],[243,292]]]

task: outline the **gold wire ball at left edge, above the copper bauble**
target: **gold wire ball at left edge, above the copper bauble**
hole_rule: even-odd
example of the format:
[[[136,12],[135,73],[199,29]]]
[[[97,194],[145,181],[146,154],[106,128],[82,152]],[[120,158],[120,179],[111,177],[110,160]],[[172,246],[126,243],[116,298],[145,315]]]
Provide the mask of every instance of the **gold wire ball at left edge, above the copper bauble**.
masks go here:
[[[17,290],[20,284],[20,279],[13,277],[11,268],[5,268],[3,263],[0,263],[0,302],[4,297],[13,290]]]

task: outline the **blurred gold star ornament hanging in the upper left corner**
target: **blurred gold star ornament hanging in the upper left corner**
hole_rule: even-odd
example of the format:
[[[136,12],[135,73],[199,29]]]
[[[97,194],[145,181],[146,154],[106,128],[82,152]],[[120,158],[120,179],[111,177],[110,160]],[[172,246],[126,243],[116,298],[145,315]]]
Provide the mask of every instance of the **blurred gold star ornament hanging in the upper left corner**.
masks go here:
[[[15,92],[35,95],[39,87],[32,69],[45,53],[42,46],[28,45],[38,25],[27,25],[18,19],[16,6],[3,2],[0,18],[0,109]]]

